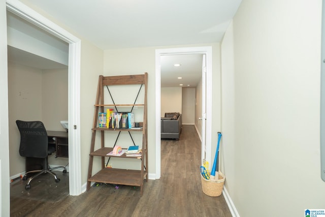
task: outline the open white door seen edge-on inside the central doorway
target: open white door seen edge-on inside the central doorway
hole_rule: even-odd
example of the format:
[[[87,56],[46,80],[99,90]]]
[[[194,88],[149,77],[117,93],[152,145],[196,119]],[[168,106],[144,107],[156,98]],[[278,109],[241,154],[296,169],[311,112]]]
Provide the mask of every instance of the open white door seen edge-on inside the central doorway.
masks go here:
[[[207,143],[206,143],[206,54],[203,54],[202,58],[202,129],[201,129],[201,137],[202,137],[202,147],[201,147],[201,164],[205,163],[206,160],[206,151],[207,151]],[[208,169],[208,168],[207,168]]]

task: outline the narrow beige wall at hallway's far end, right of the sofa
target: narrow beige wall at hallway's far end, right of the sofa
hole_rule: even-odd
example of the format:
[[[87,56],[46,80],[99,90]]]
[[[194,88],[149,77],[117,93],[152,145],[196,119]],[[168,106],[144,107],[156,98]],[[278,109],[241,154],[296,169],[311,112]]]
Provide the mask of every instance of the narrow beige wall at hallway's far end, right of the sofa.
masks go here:
[[[182,124],[194,125],[195,118],[195,90],[194,87],[182,88]]]

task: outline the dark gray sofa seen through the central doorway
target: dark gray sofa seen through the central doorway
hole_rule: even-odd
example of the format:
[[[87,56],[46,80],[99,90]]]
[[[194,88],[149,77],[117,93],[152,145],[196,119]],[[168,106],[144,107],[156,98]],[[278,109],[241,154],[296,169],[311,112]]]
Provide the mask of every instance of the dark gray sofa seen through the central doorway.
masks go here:
[[[178,112],[165,113],[160,118],[161,139],[179,140],[182,131],[182,114]]]

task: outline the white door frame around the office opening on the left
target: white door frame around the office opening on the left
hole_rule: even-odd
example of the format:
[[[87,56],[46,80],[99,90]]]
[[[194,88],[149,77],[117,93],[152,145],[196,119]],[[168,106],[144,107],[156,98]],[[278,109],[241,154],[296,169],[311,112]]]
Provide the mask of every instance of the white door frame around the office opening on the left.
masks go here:
[[[80,58],[81,40],[17,0],[6,0],[7,10],[69,43],[68,120],[69,120],[69,194],[80,195]],[[8,82],[8,79],[7,79]],[[9,145],[9,144],[8,144]],[[9,167],[9,166],[8,166]]]

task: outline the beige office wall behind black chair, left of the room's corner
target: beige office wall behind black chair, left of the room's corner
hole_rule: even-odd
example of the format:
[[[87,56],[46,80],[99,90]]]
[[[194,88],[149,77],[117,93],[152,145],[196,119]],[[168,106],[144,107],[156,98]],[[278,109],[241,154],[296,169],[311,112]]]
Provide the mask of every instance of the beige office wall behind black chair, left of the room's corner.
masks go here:
[[[19,155],[20,134],[16,120],[42,119],[42,71],[8,63],[10,175],[25,171]]]

